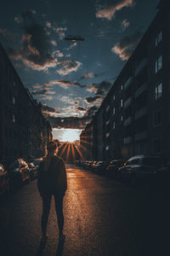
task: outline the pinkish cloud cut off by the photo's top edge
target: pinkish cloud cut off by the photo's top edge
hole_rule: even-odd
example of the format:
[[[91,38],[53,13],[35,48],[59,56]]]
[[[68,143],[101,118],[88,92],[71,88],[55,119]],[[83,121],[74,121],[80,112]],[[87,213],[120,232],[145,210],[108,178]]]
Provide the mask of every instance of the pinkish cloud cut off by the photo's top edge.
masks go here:
[[[119,11],[124,7],[131,6],[133,6],[133,0],[120,0],[118,3],[112,4],[108,7],[98,5],[96,18],[112,20],[113,16],[116,14],[116,11]]]

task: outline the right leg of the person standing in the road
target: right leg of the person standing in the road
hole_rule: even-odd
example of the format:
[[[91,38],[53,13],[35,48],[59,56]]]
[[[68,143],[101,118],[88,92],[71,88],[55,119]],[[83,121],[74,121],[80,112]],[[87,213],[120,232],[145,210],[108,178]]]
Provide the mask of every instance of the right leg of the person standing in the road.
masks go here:
[[[57,214],[57,220],[59,225],[59,233],[63,233],[64,227],[64,214],[63,214],[63,197],[54,195],[55,211]]]

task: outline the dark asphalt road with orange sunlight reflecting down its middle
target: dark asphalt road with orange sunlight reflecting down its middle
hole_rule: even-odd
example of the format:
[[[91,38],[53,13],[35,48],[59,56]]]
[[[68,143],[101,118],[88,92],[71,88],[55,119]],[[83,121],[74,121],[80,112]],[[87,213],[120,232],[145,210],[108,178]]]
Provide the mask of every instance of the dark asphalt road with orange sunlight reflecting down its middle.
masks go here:
[[[48,241],[41,241],[37,180],[0,200],[0,255],[170,255],[167,189],[133,188],[67,166],[65,242],[59,243],[54,200]]]

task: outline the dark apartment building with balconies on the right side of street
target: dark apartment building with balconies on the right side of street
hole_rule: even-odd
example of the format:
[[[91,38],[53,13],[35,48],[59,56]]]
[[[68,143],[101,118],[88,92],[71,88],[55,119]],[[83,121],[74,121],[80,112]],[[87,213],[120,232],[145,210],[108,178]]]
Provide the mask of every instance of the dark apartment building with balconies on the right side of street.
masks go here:
[[[97,150],[94,159],[135,154],[170,159],[169,67],[170,5],[162,0],[155,19],[95,114],[98,136],[93,144],[102,150]]]

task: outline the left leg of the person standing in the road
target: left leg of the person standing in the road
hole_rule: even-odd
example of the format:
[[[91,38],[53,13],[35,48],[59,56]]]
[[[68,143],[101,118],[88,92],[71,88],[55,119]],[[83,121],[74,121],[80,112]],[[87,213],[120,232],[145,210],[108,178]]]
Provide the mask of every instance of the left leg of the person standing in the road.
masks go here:
[[[42,197],[42,236],[46,236],[51,197],[52,195],[45,195]]]

